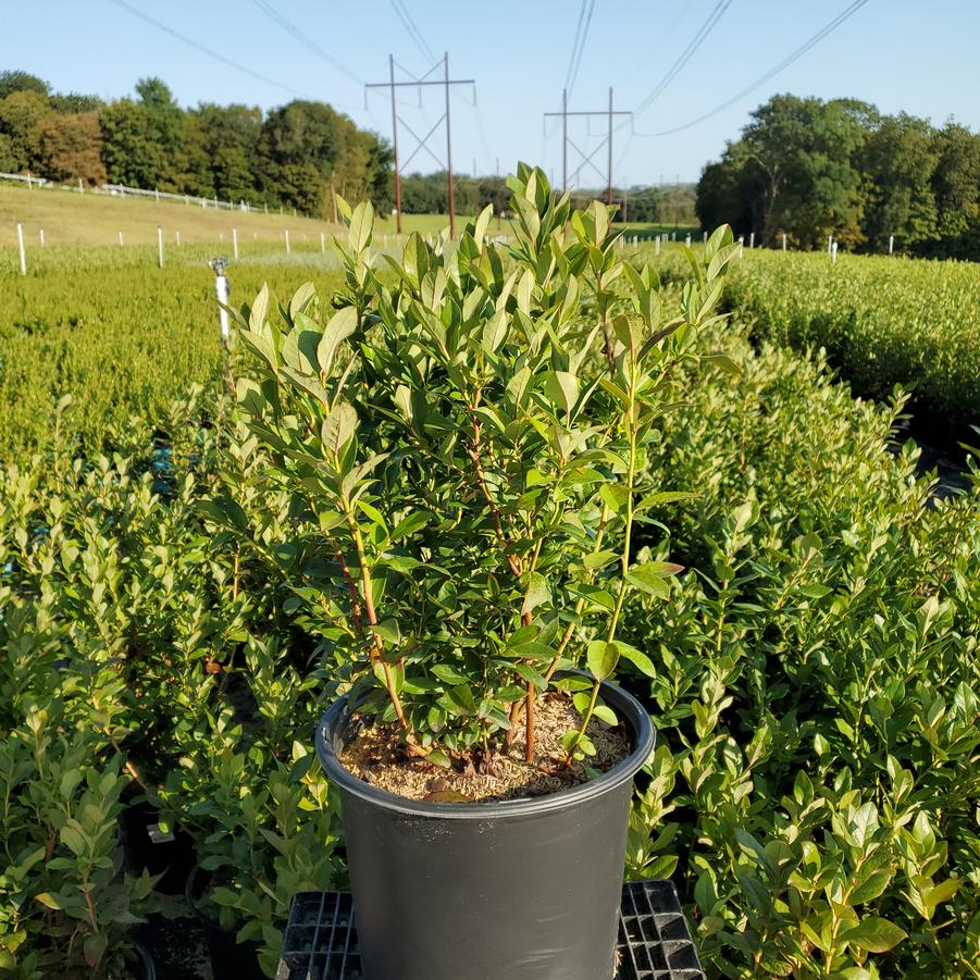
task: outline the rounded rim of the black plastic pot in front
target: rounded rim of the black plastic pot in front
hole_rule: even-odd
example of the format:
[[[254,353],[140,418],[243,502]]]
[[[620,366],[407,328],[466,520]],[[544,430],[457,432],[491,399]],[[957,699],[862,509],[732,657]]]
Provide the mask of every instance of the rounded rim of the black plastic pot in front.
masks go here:
[[[562,670],[558,671],[557,675],[578,675],[590,681],[593,680],[582,670]],[[346,722],[352,714],[348,709],[348,695],[346,694],[337,698],[317,723],[317,755],[327,778],[343,790],[377,807],[405,816],[443,820],[487,820],[547,814],[601,796],[632,780],[654,750],[656,732],[650,716],[643,705],[628,691],[609,681],[603,681],[600,690],[603,699],[616,711],[620,722],[628,729],[632,729],[630,734],[633,736],[633,749],[624,759],[595,779],[580,783],[578,786],[548,793],[546,796],[534,796],[530,799],[500,799],[491,803],[425,803],[372,786],[345,768],[334,749],[335,729]]]

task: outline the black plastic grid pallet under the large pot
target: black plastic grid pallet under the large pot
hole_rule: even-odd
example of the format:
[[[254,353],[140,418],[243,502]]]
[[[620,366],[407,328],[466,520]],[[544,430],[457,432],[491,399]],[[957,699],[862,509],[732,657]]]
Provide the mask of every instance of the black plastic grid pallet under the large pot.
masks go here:
[[[669,881],[623,885],[617,948],[615,980],[704,980],[678,893]],[[347,892],[300,892],[293,897],[276,980],[362,980],[353,905]]]

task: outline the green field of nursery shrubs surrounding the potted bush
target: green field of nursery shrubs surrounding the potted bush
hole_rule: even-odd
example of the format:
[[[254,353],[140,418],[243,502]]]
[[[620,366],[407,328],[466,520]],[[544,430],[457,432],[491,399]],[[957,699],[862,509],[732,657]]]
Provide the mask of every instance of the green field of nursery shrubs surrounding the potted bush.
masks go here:
[[[346,886],[334,558],[228,396],[257,359],[225,363],[211,253],[0,253],[0,977],[138,976],[174,916],[272,977],[290,896]],[[276,322],[350,288],[319,236],[228,275]],[[657,729],[627,873],[673,879],[711,978],[976,980],[980,471],[934,498],[874,399],[980,420],[977,269],[755,251],[724,296],[642,457],[635,548],[685,571],[622,610]]]

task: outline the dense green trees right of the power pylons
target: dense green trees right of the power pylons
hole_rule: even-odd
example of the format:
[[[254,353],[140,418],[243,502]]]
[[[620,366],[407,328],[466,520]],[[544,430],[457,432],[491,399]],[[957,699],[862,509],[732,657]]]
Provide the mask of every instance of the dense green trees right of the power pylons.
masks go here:
[[[764,245],[980,260],[980,134],[856,99],[773,96],[697,185],[704,227]]]

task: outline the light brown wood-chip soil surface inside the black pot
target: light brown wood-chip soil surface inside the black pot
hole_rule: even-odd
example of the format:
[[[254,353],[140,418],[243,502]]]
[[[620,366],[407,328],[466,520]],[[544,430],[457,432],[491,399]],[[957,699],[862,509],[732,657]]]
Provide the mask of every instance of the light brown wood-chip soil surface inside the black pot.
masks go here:
[[[545,796],[588,779],[588,770],[606,772],[632,750],[620,725],[610,728],[593,718],[586,729],[596,748],[595,756],[565,765],[561,737],[578,729],[582,716],[565,694],[550,692],[537,702],[534,730],[536,754],[524,761],[523,712],[517,724],[510,753],[454,760],[445,769],[425,759],[410,758],[396,724],[365,723],[340,757],[355,776],[398,796],[427,803],[479,803]]]

